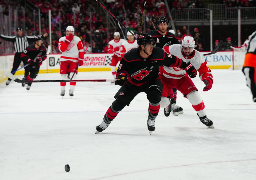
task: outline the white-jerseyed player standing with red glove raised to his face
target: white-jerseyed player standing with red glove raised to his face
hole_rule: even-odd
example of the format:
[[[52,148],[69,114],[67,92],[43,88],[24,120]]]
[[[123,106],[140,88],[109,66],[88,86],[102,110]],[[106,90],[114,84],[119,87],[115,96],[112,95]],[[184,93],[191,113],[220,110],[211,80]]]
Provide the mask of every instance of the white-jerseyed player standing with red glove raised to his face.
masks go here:
[[[77,66],[83,64],[84,49],[81,39],[74,35],[74,27],[67,26],[66,36],[59,39],[58,49],[61,51],[61,67],[60,74],[61,79],[68,80],[68,73],[73,76],[74,79],[77,75]],[[74,96],[76,82],[70,82],[69,96]],[[61,96],[65,95],[66,82],[61,82]]]

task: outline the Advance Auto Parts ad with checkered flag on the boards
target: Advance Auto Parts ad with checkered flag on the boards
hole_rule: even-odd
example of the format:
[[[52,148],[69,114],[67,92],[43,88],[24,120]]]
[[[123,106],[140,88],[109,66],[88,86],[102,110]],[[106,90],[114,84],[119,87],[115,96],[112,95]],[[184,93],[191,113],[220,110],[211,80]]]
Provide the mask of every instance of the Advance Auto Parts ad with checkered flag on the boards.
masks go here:
[[[79,68],[110,67],[113,54],[85,54],[83,65]],[[61,54],[47,55],[47,69],[59,69]],[[44,63],[43,63],[44,64]],[[42,69],[42,68],[40,68]]]

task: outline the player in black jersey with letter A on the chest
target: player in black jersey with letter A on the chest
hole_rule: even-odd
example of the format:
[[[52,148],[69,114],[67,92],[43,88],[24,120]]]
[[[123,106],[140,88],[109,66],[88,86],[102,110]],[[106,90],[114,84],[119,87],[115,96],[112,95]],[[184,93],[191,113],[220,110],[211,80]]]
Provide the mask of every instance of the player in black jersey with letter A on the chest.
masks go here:
[[[176,38],[176,36],[171,32],[167,32],[168,19],[166,17],[158,18],[157,27],[158,27],[158,30],[152,30],[147,32],[147,34],[151,35],[154,38],[154,41],[156,42],[156,47],[163,48],[163,46],[165,46],[165,44],[167,43],[168,43],[168,46],[172,44],[179,44],[179,41]],[[165,116],[169,116],[170,112],[173,115],[178,115],[183,113],[182,107],[179,107],[176,105],[177,89],[173,88],[172,90],[173,91],[171,91],[171,96],[169,97],[171,100],[171,103],[168,107],[164,108]]]

